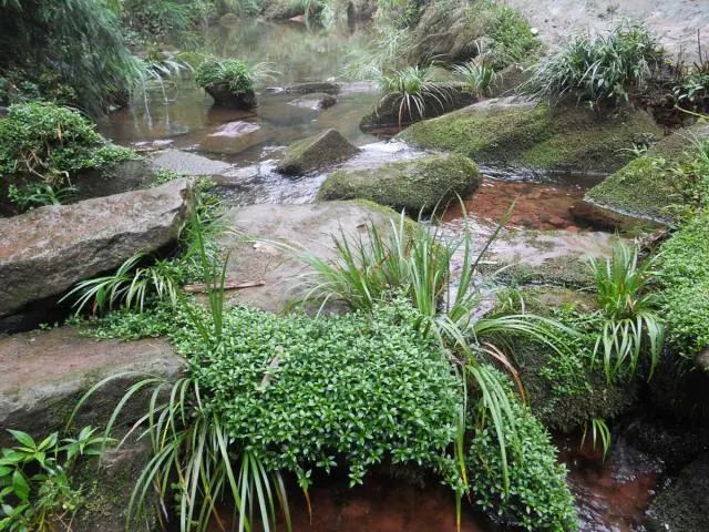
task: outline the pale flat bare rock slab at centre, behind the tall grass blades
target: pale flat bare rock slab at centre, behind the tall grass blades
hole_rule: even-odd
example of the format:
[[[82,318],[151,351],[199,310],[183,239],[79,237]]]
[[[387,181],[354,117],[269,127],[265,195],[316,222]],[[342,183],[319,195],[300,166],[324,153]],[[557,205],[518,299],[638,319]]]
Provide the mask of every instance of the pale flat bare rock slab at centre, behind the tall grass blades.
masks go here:
[[[323,258],[332,258],[332,236],[363,235],[371,219],[387,224],[393,211],[370,208],[353,202],[328,202],[311,205],[250,205],[232,208],[224,224],[233,231],[222,236],[222,246],[230,253],[226,277],[234,284],[259,284],[229,290],[233,304],[281,311],[299,295],[299,275],[308,268],[280,246],[257,238],[301,246]],[[237,236],[238,233],[240,236]]]

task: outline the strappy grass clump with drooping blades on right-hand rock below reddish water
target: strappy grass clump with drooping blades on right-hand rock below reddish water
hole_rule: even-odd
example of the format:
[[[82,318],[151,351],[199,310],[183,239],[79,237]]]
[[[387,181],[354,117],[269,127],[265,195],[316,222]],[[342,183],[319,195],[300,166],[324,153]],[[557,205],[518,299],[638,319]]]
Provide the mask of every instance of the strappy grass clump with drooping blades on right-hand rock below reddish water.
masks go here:
[[[589,260],[598,305],[606,317],[592,365],[603,358],[608,382],[619,375],[635,375],[645,354],[649,356],[648,379],[651,378],[662,351],[665,325],[655,313],[655,296],[646,289],[650,265],[639,264],[637,248],[624,243],[616,245],[613,256],[603,264],[595,258]]]

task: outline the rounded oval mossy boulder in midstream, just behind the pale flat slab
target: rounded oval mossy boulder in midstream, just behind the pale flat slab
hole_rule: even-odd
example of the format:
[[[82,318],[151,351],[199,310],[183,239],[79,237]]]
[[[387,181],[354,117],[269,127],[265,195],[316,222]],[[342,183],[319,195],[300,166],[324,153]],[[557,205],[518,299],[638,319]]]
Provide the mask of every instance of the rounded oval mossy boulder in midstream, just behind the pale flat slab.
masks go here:
[[[318,200],[369,200],[415,216],[471,193],[481,182],[477,165],[470,158],[428,155],[376,168],[339,170],[325,181]]]

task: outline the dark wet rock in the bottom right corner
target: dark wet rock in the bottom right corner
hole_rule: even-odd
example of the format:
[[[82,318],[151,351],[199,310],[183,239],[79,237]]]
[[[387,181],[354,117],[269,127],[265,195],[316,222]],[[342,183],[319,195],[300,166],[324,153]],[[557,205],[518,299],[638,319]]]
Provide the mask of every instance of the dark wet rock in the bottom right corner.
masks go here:
[[[709,530],[709,453],[687,466],[653,500],[647,515],[650,532]]]

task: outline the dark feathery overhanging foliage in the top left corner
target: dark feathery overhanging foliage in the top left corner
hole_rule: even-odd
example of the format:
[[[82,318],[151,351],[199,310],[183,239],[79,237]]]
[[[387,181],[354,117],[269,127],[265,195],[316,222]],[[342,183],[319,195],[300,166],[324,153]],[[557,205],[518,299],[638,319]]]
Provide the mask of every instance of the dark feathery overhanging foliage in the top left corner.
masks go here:
[[[32,83],[44,99],[56,98],[100,114],[126,93],[141,72],[123,42],[117,6],[95,0],[0,0],[0,76],[24,72],[12,83],[16,88]]]

